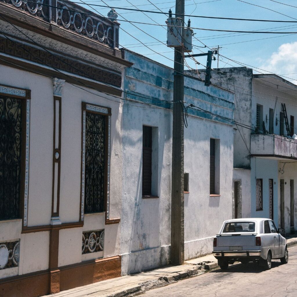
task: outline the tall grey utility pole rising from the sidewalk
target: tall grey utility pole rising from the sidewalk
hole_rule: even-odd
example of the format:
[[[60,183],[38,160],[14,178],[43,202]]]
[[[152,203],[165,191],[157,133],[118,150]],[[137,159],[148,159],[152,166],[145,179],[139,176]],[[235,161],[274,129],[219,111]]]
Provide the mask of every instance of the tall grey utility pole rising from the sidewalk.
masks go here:
[[[176,0],[176,18],[184,27],[184,0]],[[184,29],[182,28],[182,36]],[[184,49],[174,51],[172,190],[171,190],[171,251],[170,263],[184,263],[184,119],[180,101],[184,101]]]

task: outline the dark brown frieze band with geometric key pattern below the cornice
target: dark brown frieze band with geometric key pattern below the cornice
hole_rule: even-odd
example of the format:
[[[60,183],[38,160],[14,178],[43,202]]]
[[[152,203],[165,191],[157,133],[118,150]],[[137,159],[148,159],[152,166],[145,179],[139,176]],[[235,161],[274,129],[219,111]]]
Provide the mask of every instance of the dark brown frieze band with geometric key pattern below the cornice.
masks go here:
[[[121,87],[121,75],[93,67],[77,60],[68,59],[48,53],[45,50],[37,49],[19,42],[12,42],[0,37],[0,53],[12,55],[27,61],[54,67],[61,71],[79,75],[93,80],[107,83],[112,86]]]

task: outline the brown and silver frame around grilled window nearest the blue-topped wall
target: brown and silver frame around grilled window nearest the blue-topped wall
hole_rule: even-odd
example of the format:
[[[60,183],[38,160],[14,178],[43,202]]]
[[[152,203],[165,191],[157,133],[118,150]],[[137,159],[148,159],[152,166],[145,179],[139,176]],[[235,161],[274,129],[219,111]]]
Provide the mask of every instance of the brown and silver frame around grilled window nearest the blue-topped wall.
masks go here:
[[[80,222],[84,220],[85,202],[85,145],[86,145],[86,112],[105,116],[105,135],[106,142],[104,148],[104,209],[95,214],[105,213],[105,223],[109,221],[109,202],[110,202],[110,128],[111,128],[111,108],[96,105],[93,103],[82,102],[82,141],[81,141],[81,195],[80,195]],[[89,214],[89,213],[88,213]],[[91,214],[91,213],[90,213]],[[92,213],[93,214],[93,213]]]

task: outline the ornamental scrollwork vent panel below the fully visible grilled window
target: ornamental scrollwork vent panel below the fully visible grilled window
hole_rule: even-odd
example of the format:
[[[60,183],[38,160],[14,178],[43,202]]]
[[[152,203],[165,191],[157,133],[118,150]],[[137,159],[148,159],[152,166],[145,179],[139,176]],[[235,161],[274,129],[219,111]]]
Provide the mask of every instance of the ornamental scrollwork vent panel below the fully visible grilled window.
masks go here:
[[[83,232],[82,254],[103,251],[104,229]]]

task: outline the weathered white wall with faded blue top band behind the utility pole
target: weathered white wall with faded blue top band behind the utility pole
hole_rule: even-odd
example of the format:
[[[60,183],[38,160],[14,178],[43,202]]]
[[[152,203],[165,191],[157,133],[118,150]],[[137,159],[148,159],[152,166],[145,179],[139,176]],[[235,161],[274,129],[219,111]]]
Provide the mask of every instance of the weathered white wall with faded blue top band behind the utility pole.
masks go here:
[[[125,51],[125,59],[134,65],[126,70],[124,82],[125,98],[130,100],[123,107],[123,158],[129,164],[124,176],[130,184],[124,183],[122,200],[122,216],[126,218],[121,225],[123,274],[164,265],[170,259],[172,112],[166,101],[173,96],[173,69],[129,51]],[[152,105],[135,107],[135,101]],[[185,106],[192,103],[233,118],[233,94],[222,88],[205,87],[186,78],[185,101]],[[188,112],[189,127],[184,129],[184,170],[190,177],[190,193],[184,194],[186,259],[211,252],[212,236],[222,221],[232,216],[233,168],[230,121],[196,108]],[[141,198],[142,125],[158,127],[159,131],[159,198]],[[221,196],[214,197],[209,195],[210,138],[220,139]],[[214,224],[206,224],[209,217],[214,218]]]

